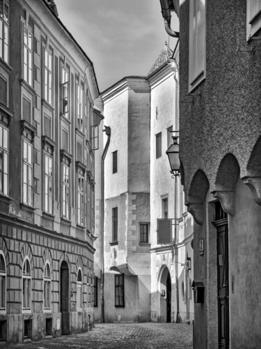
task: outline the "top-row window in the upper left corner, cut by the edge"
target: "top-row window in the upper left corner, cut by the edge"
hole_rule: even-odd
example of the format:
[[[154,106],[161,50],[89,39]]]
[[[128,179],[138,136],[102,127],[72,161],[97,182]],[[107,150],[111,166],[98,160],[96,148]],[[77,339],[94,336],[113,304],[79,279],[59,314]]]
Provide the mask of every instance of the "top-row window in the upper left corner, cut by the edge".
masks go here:
[[[9,46],[10,46],[10,33],[9,33],[9,15],[10,15],[10,8],[9,8],[9,0],[2,0],[3,1],[3,17],[0,15],[0,26],[1,26],[1,33],[4,35],[4,38],[0,38],[0,58],[3,59],[6,63],[9,63]],[[6,6],[8,7],[8,15],[5,17],[5,9]],[[6,33],[7,33],[7,39],[6,39]]]

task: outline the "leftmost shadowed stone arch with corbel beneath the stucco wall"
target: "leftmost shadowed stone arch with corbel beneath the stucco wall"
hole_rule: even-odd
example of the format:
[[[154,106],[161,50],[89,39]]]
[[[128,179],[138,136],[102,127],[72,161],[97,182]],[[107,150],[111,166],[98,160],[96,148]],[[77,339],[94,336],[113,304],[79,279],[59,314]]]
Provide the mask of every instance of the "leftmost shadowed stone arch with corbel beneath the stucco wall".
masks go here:
[[[209,180],[205,172],[198,169],[189,187],[189,201],[186,203],[188,212],[198,224],[203,224],[203,205],[209,189]]]

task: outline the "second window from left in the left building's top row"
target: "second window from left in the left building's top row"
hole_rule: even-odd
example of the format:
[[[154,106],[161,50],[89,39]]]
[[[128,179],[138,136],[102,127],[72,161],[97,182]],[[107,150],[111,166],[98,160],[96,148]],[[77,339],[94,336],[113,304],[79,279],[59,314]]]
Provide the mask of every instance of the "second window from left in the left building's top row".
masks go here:
[[[33,33],[24,26],[24,80],[33,86]]]

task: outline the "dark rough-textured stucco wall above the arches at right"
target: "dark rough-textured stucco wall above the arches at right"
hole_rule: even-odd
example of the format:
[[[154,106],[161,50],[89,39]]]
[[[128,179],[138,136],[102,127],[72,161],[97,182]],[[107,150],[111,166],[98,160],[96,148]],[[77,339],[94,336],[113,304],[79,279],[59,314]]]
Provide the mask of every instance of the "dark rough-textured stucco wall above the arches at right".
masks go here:
[[[214,190],[219,163],[227,153],[246,175],[261,130],[261,45],[246,42],[246,1],[207,1],[206,79],[188,95],[189,0],[180,7],[180,157],[185,191],[197,169]],[[244,51],[244,49],[253,49]]]

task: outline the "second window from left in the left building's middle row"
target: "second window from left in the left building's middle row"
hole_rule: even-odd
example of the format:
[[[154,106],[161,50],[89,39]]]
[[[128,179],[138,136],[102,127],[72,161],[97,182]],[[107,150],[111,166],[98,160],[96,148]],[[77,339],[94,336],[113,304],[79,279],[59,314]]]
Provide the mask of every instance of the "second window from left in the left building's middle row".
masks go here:
[[[26,141],[23,144],[23,203],[33,205],[33,146]]]

